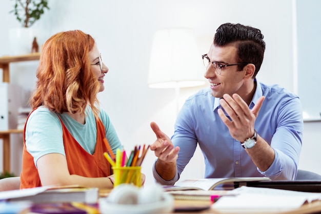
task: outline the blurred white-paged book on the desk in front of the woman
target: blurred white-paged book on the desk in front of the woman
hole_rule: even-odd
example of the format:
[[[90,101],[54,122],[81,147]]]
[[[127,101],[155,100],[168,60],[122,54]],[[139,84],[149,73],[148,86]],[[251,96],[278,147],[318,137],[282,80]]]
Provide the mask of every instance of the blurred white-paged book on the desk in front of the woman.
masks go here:
[[[86,202],[98,201],[98,188],[78,185],[42,186],[0,192],[0,200],[31,201],[32,203]]]

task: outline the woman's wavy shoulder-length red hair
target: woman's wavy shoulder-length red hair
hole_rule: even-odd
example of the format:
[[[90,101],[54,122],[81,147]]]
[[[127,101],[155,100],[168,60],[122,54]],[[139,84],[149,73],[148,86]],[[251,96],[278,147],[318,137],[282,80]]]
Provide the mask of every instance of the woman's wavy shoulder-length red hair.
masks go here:
[[[100,85],[89,60],[94,45],[93,37],[80,30],[51,36],[41,52],[31,107],[43,105],[58,113],[84,113],[89,104],[97,116]]]

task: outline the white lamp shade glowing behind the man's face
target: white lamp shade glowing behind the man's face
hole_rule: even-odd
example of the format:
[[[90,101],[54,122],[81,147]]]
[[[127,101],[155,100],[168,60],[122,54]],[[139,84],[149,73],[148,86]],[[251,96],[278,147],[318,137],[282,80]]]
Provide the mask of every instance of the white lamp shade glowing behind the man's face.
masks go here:
[[[148,85],[182,88],[205,84],[204,66],[190,29],[164,29],[154,34]]]

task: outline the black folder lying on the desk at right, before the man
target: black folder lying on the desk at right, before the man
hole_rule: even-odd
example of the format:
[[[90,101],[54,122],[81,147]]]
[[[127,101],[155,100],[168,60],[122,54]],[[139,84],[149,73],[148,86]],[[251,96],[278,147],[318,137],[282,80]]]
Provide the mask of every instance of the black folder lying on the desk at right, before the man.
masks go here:
[[[273,189],[285,189],[303,192],[321,192],[321,181],[299,180],[299,181],[250,181],[234,182],[234,188],[240,186],[264,187]]]

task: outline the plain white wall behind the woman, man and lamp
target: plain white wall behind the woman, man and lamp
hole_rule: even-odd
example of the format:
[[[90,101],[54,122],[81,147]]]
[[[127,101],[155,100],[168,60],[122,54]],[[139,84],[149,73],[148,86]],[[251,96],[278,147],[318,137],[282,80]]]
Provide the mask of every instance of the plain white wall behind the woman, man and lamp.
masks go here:
[[[73,29],[83,30],[95,38],[103,61],[110,69],[105,77],[106,89],[99,94],[99,100],[109,113],[126,150],[130,150],[136,144],[154,142],[155,136],[149,127],[151,121],[157,122],[168,135],[173,133],[174,89],[151,89],[147,85],[155,30],[174,27],[194,29],[199,54],[203,54],[208,51],[220,24],[231,22],[257,27],[262,30],[267,43],[258,80],[276,83],[293,91],[291,4],[291,0],[50,0],[50,10],[33,28],[42,31],[38,36],[39,43],[56,32]],[[0,7],[1,20],[5,20],[0,34],[0,55],[10,52],[9,28],[19,26],[13,15],[8,13],[12,5],[12,1],[3,1]],[[11,82],[22,85],[26,90],[33,89],[35,62],[17,63],[11,68]],[[182,89],[180,104],[198,89]],[[308,129],[313,130],[313,135],[305,135],[304,144],[320,139],[315,135],[320,124],[311,126]],[[21,146],[21,139],[17,141],[15,144]],[[21,148],[17,149],[20,152]],[[19,155],[13,154],[15,173],[19,173],[21,168]],[[305,151],[303,155],[309,157],[309,152]],[[154,154],[148,152],[143,164],[147,184],[153,183],[151,166],[154,160]],[[198,151],[182,177],[202,178],[203,163],[202,154]],[[310,163],[310,160],[305,160],[305,164],[300,166],[321,173]]]

